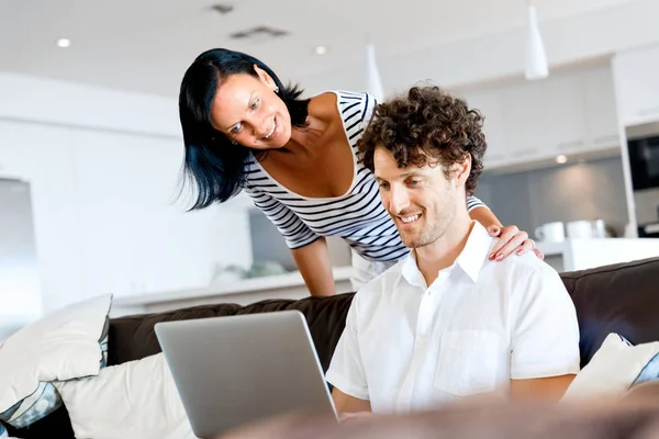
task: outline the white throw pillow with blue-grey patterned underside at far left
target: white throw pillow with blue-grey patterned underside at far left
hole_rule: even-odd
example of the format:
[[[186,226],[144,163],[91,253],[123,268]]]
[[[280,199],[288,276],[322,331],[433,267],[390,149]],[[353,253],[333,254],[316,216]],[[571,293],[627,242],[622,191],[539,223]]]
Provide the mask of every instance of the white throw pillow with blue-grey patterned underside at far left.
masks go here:
[[[0,345],[0,420],[30,426],[62,405],[53,381],[97,375],[105,367],[111,305],[111,294],[72,304]]]

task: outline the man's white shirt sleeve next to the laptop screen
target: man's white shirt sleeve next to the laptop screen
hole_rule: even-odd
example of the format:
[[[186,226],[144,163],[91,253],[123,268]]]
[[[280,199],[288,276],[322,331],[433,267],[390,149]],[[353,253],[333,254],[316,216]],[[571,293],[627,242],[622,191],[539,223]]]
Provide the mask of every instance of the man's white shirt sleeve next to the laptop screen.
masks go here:
[[[368,384],[359,350],[357,327],[358,295],[359,293],[355,295],[350,304],[350,309],[346,317],[346,327],[338,339],[325,379],[346,395],[369,401]]]

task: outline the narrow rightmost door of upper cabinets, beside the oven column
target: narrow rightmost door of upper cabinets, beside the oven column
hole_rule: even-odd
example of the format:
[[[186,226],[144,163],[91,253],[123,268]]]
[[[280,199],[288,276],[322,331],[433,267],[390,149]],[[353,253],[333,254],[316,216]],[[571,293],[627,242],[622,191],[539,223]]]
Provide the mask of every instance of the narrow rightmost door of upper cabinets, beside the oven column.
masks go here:
[[[588,149],[618,147],[621,135],[611,69],[597,68],[587,71],[584,87]]]

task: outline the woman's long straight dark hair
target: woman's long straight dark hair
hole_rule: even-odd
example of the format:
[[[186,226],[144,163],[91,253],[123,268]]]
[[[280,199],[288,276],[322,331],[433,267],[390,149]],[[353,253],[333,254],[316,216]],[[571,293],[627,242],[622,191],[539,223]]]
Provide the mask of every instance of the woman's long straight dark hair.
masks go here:
[[[298,86],[284,87],[277,75],[259,59],[241,52],[213,48],[199,55],[186,71],[179,94],[179,116],[186,145],[182,183],[192,183],[197,201],[190,210],[223,203],[237,194],[245,181],[245,160],[249,148],[233,144],[211,124],[211,106],[220,85],[231,75],[258,77],[254,66],[275,81],[277,94],[291,115],[293,126],[304,126],[308,99],[300,99]],[[252,150],[258,157],[263,151]]]

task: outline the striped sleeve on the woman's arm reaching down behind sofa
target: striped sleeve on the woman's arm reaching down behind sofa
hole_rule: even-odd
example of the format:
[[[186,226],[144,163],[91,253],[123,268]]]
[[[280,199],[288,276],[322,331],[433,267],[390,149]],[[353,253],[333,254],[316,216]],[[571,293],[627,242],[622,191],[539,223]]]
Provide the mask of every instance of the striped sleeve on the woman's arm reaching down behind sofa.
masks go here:
[[[290,249],[308,246],[319,238],[293,211],[269,193],[252,185],[246,185],[245,192],[249,194],[254,205],[277,226]]]

